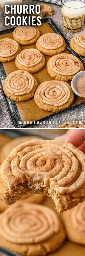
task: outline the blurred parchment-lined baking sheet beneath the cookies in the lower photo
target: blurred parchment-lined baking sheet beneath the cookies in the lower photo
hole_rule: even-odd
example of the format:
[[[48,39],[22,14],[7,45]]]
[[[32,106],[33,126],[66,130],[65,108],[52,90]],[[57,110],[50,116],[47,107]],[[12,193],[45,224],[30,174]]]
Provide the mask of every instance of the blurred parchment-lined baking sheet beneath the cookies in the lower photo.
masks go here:
[[[3,146],[5,143],[12,140],[10,131],[8,130],[9,137],[6,137],[0,133],[0,149],[1,145]],[[17,137],[21,136],[21,132],[17,133]],[[24,136],[24,133],[22,132],[22,136]],[[14,132],[14,138],[15,138],[15,132]],[[51,198],[45,197],[44,201],[42,202],[42,205],[48,206],[52,208],[55,212],[55,205]],[[62,213],[58,213],[59,218],[61,218]],[[0,256],[17,256],[18,254],[12,253],[9,250],[6,250],[5,248],[0,247]],[[5,253],[5,255],[3,254]],[[49,253],[49,256],[85,256],[85,246],[71,243],[66,239],[66,241],[63,243],[62,247],[59,248],[56,252]]]

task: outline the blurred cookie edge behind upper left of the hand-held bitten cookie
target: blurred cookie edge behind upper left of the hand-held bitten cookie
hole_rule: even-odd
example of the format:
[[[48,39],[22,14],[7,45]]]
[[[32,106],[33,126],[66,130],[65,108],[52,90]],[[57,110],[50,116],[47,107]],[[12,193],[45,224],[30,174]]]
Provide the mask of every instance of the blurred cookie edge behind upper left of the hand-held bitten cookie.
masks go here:
[[[16,139],[13,139],[10,142],[6,143],[0,149],[0,164],[5,160],[5,158],[7,156],[9,156],[9,154],[13,148],[15,148],[19,144],[22,144],[28,140],[36,140],[36,139],[41,139],[41,137],[39,137],[39,136],[23,136],[23,137],[18,137]]]

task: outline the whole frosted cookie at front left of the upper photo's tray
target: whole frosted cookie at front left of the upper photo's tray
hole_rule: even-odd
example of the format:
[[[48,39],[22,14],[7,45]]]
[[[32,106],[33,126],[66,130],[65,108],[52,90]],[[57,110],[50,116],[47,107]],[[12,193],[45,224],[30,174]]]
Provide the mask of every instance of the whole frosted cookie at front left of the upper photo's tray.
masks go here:
[[[38,86],[37,80],[24,70],[10,73],[3,83],[4,94],[15,102],[24,102],[33,98]]]

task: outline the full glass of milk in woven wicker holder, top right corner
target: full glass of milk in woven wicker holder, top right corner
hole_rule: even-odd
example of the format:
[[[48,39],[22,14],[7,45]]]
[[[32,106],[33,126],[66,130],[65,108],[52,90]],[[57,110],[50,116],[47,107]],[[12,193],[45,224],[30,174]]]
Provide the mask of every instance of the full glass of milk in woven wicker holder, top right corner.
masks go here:
[[[85,1],[61,0],[61,2],[64,29],[69,32],[80,31],[85,19]]]

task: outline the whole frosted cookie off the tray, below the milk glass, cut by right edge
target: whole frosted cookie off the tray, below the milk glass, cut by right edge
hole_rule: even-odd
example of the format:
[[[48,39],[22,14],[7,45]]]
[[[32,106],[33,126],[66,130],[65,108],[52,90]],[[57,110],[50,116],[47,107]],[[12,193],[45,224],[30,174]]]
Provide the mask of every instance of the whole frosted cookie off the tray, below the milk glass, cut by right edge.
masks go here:
[[[85,56],[85,34],[77,34],[70,41],[70,47],[73,51]]]

